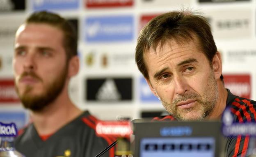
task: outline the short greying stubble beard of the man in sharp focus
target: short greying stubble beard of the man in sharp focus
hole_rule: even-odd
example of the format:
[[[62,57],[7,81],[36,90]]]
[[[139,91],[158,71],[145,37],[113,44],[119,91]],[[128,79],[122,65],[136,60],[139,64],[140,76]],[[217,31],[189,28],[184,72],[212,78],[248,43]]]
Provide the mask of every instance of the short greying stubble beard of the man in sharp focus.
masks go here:
[[[162,105],[165,107],[166,111],[171,114],[177,120],[202,120],[208,117],[214,110],[217,104],[218,98],[218,87],[215,80],[213,71],[211,71],[208,78],[208,83],[203,92],[203,95],[200,96],[198,93],[186,93],[185,95],[180,95],[178,98],[173,100],[171,104],[165,102],[161,97],[158,96],[158,99],[161,101]],[[179,109],[176,106],[181,101],[186,101],[188,99],[196,100],[197,105],[193,108],[188,109]],[[186,116],[189,113],[196,113],[193,116]]]

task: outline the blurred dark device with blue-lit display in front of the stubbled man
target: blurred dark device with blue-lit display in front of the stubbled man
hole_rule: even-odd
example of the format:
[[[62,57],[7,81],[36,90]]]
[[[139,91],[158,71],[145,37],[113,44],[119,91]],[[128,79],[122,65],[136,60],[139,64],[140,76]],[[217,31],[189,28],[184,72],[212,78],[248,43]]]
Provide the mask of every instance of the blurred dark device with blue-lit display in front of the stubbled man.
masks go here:
[[[135,157],[219,157],[220,122],[134,122]]]

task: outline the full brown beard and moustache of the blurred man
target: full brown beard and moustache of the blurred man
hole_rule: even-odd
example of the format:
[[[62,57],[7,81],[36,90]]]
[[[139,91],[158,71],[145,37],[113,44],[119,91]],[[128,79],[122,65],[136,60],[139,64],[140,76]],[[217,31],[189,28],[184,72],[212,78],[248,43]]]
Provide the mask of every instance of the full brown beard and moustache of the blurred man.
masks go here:
[[[32,77],[39,78],[34,73],[25,73],[25,75],[31,75]],[[44,108],[49,106],[59,94],[62,92],[67,76],[67,68],[65,67],[62,72],[49,84],[45,85],[45,91],[40,95],[33,95],[30,92],[33,90],[33,86],[27,85],[23,94],[19,92],[17,83],[15,84],[16,92],[20,98],[23,106],[34,112],[42,111]],[[40,79],[41,80],[41,79]],[[42,80],[41,80],[42,81]],[[34,89],[35,90],[35,89]]]

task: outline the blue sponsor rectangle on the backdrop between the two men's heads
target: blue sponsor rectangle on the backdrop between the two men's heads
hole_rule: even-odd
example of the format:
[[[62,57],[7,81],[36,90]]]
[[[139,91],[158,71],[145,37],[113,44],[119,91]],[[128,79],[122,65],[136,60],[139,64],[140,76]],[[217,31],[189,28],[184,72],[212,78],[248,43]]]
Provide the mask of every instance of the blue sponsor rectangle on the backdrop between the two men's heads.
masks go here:
[[[133,17],[106,16],[85,19],[84,35],[87,42],[122,42],[133,40]]]

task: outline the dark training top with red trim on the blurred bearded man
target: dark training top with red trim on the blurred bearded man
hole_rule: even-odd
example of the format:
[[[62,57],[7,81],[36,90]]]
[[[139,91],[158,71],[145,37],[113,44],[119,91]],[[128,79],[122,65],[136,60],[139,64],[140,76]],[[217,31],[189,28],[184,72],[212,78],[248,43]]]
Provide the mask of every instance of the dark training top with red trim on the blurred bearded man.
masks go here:
[[[96,135],[97,121],[85,111],[47,137],[39,136],[32,123],[20,131],[15,148],[25,157],[94,157],[115,141],[114,137]],[[114,148],[102,157],[114,157]]]

